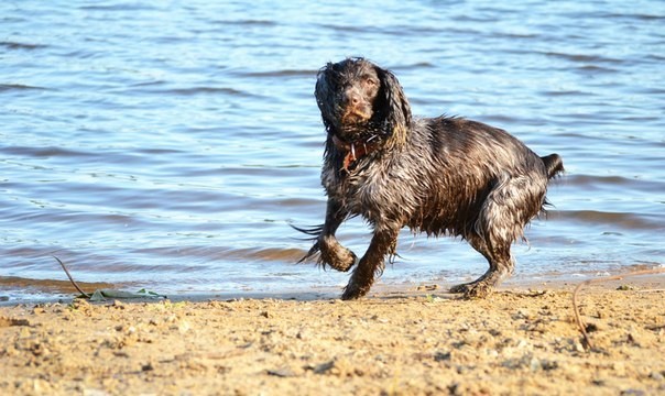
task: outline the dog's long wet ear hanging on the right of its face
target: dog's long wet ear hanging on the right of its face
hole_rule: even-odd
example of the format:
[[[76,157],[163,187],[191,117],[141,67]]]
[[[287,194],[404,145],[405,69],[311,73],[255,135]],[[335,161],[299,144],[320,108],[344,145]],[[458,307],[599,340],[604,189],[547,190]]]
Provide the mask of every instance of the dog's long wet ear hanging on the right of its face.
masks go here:
[[[395,142],[404,142],[408,125],[411,124],[411,106],[402,90],[397,78],[389,70],[375,67],[377,75],[381,80],[379,92],[379,107],[377,111],[388,123],[389,131]]]

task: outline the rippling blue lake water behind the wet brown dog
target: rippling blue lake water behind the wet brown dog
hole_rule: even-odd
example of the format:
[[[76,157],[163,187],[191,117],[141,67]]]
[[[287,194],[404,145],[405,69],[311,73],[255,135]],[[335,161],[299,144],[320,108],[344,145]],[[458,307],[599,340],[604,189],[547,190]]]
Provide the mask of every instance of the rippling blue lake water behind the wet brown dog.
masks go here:
[[[329,61],[392,69],[414,114],[465,116],[559,153],[555,208],[517,279],[665,263],[665,2],[3,1],[0,296],[83,284],[165,294],[312,292]],[[340,239],[358,253],[369,231]],[[454,283],[486,263],[404,232],[382,283]],[[91,287],[91,286],[90,286]]]

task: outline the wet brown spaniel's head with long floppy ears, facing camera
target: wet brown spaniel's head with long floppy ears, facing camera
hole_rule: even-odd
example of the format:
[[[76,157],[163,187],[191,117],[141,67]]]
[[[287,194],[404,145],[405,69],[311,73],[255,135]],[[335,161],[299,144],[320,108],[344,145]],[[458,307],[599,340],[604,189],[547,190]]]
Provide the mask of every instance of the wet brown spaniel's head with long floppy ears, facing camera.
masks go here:
[[[392,73],[369,61],[327,64],[318,73],[314,94],[330,136],[350,144],[406,139],[411,108],[402,87]]]

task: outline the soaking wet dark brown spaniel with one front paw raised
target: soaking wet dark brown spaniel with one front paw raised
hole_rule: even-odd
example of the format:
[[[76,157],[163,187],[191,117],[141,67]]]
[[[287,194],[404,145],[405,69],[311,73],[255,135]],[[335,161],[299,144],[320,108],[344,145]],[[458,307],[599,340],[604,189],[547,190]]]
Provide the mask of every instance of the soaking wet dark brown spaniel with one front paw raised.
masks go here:
[[[297,228],[314,245],[301,262],[347,272],[342,299],[371,288],[385,260],[394,261],[400,230],[460,237],[489,263],[478,279],[454,286],[483,298],[512,274],[511,245],[544,213],[548,182],[564,172],[562,157],[536,155],[508,132],[458,117],[413,118],[396,77],[358,57],[328,63],[315,97],[327,132],[321,184],[323,226]],[[361,216],[373,229],[359,260],[335,238]]]

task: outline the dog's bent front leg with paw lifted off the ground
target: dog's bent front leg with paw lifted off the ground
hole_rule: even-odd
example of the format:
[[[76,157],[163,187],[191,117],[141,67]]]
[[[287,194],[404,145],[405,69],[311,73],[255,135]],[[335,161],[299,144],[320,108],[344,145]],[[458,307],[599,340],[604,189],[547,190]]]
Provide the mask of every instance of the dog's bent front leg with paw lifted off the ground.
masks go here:
[[[335,232],[337,232],[337,229],[347,217],[348,212],[342,209],[339,202],[335,199],[328,199],[326,222],[313,248],[318,249],[320,252],[318,260],[321,265],[329,265],[337,271],[344,272],[349,271],[358,262],[356,254],[342,246],[337,238],[335,238]]]

